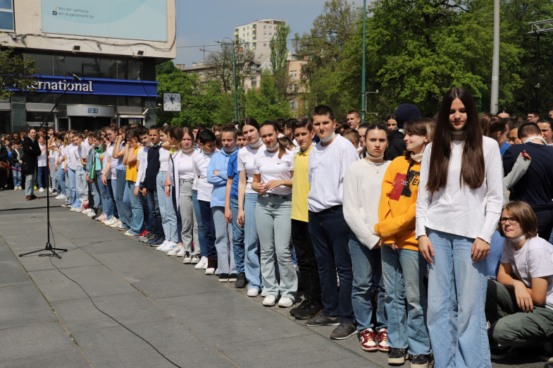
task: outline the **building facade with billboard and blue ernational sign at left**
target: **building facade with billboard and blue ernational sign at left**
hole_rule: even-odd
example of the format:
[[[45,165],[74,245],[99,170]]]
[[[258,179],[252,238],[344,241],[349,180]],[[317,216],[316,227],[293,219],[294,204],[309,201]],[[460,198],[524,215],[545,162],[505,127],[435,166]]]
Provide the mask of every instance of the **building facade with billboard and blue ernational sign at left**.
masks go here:
[[[37,69],[32,91],[0,101],[1,131],[46,118],[56,130],[156,123],[155,67],[176,56],[175,0],[121,3],[0,1],[0,42]]]

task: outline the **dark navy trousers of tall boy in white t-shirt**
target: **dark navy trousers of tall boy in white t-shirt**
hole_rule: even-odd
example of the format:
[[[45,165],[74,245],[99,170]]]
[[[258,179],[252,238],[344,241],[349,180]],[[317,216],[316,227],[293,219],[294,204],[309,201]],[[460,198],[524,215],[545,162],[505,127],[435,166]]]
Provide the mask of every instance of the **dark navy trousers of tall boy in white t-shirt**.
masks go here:
[[[344,219],[342,206],[309,211],[309,233],[321,278],[323,314],[341,316],[340,321],[355,324],[352,306],[352,257],[349,256],[349,226]],[[338,289],[336,274],[340,278]]]

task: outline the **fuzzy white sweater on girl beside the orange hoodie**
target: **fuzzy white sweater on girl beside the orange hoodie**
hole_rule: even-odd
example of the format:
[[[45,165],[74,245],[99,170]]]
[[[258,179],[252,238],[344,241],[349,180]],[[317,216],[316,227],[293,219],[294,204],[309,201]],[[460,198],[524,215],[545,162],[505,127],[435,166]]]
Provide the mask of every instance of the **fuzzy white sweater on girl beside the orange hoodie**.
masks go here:
[[[344,176],[344,219],[361,244],[369,249],[380,240],[374,227],[378,223],[382,181],[390,162],[362,159],[349,165]]]

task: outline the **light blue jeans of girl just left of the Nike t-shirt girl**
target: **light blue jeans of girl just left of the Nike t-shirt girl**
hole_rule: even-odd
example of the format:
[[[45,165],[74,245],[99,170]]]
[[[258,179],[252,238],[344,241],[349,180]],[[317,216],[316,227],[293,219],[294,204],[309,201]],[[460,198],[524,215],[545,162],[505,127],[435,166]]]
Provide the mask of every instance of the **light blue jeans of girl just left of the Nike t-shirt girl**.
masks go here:
[[[244,198],[244,271],[248,288],[263,288],[259,263],[259,237],[256,226],[257,193],[246,193]],[[292,220],[290,220],[292,221]]]

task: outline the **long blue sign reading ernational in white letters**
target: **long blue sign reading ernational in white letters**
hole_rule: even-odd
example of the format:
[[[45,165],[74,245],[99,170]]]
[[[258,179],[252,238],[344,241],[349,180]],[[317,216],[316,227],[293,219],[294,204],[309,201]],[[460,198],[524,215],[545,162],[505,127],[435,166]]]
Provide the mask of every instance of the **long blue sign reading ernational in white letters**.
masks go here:
[[[158,97],[155,80],[81,78],[35,75],[33,92],[67,94],[105,94],[108,96]]]

